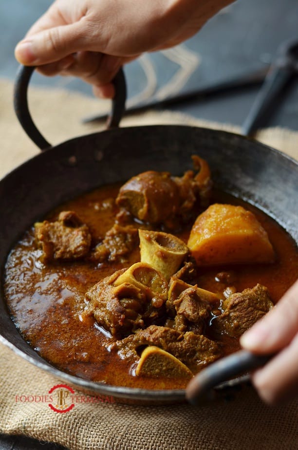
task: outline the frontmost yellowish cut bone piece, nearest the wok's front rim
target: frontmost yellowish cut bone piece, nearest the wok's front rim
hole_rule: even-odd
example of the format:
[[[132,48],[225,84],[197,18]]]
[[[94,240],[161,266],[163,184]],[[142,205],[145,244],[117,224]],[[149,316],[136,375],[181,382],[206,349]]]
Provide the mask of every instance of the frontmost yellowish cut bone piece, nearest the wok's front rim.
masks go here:
[[[143,351],[135,374],[154,378],[166,376],[167,378],[190,379],[193,377],[192,372],[183,362],[155,346],[149,346]]]

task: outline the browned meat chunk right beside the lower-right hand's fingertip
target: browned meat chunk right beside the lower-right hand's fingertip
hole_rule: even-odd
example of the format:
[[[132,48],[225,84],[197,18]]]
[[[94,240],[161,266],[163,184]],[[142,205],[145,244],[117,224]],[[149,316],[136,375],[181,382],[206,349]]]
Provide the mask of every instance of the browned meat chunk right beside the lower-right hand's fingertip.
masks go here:
[[[257,284],[252,289],[244,289],[224,300],[223,314],[212,321],[212,326],[217,333],[239,338],[272,307],[267,288]]]

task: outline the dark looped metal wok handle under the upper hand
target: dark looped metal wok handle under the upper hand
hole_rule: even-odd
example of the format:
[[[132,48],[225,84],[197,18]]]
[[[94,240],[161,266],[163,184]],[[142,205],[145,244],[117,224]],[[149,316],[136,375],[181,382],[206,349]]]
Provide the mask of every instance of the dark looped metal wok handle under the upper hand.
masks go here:
[[[30,139],[37,145],[37,147],[39,147],[40,150],[46,150],[52,146],[38,131],[32,120],[28,107],[27,91],[34,69],[35,67],[19,67],[14,89],[14,108],[19,119],[19,123],[26,131]],[[114,77],[113,84],[115,86],[115,96],[112,99],[112,112],[107,120],[107,128],[118,127],[125,111],[126,81],[122,68]]]

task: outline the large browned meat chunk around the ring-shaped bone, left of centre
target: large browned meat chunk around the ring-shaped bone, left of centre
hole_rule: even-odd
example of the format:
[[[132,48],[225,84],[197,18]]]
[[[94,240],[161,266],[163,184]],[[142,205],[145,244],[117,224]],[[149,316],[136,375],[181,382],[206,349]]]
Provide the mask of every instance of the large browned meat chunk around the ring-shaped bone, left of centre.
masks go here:
[[[126,269],[115,272],[96,283],[86,293],[89,300],[82,320],[88,322],[94,317],[99,325],[118,338],[154,323],[165,314],[165,300],[149,296],[149,290],[142,290],[129,282],[117,286],[113,283]]]

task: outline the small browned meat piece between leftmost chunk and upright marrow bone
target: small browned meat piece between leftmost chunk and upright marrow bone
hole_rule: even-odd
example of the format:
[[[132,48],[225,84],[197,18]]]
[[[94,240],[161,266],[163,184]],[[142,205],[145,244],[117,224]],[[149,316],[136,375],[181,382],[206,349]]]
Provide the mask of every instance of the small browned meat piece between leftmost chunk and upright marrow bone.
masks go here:
[[[93,261],[124,262],[138,244],[138,231],[131,226],[113,225],[92,254]]]

